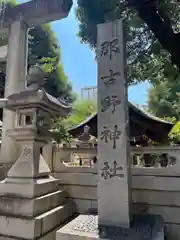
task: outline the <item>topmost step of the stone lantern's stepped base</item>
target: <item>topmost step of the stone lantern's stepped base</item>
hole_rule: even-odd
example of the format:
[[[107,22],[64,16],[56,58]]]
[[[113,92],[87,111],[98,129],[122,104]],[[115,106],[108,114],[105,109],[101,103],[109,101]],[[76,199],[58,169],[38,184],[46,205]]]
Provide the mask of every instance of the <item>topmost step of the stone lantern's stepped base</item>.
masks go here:
[[[59,179],[52,176],[41,179],[6,178],[0,182],[0,196],[35,198],[59,189]]]

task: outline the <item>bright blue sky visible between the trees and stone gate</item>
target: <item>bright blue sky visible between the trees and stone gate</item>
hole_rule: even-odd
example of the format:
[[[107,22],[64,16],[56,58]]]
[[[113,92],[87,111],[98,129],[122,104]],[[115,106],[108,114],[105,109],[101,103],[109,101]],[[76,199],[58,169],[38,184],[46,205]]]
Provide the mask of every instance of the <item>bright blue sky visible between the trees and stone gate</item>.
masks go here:
[[[26,2],[20,0],[19,2]],[[97,83],[97,66],[94,54],[88,45],[82,44],[77,37],[78,21],[75,17],[75,6],[69,16],[52,23],[53,30],[61,46],[61,61],[75,92],[80,93],[82,87],[94,86]],[[129,100],[145,104],[149,85],[142,83],[129,88]]]

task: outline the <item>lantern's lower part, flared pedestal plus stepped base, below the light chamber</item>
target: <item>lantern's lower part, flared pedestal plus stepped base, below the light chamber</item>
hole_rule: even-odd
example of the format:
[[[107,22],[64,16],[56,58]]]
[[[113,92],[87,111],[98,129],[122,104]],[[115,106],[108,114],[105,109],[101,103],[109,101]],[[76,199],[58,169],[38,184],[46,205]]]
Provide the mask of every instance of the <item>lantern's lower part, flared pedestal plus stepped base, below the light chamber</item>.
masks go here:
[[[21,145],[21,154],[0,183],[0,234],[3,239],[55,239],[56,227],[72,215],[73,205],[49,175],[41,155],[46,140],[33,128],[8,135]]]

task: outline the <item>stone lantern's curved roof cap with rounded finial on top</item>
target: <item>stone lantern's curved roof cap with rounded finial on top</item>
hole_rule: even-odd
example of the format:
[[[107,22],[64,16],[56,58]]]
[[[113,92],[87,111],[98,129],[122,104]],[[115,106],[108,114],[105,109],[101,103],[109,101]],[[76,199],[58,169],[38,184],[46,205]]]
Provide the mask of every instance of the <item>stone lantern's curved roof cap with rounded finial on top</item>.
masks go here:
[[[8,97],[6,108],[11,110],[22,108],[43,108],[59,116],[67,116],[71,106],[47,93],[43,86],[44,71],[37,65],[32,66],[27,76],[28,87]]]

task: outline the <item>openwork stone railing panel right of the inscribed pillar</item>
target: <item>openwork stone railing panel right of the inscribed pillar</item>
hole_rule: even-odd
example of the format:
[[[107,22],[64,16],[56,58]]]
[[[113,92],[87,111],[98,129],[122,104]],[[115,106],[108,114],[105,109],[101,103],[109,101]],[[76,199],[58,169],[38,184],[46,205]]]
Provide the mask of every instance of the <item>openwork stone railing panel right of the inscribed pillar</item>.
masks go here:
[[[180,147],[132,147],[132,174],[180,176]]]

